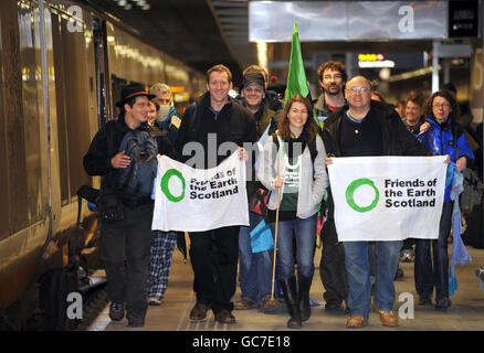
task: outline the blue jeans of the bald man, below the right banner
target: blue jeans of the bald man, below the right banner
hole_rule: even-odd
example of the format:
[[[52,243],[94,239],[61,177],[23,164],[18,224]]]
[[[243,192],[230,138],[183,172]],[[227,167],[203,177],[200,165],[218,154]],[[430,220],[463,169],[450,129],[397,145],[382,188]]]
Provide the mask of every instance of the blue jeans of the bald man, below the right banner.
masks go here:
[[[375,304],[380,310],[393,310],[396,298],[394,274],[397,272],[402,240],[375,242],[376,293]],[[371,308],[371,281],[368,259],[369,242],[345,242],[345,267],[348,276],[349,314],[368,320]]]

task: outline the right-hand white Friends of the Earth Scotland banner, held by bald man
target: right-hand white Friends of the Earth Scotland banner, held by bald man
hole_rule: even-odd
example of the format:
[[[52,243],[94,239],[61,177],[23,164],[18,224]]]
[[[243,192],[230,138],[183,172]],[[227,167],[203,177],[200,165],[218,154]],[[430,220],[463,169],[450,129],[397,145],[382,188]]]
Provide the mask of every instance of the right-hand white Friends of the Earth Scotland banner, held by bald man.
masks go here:
[[[436,239],[446,156],[333,158],[328,165],[340,242]]]

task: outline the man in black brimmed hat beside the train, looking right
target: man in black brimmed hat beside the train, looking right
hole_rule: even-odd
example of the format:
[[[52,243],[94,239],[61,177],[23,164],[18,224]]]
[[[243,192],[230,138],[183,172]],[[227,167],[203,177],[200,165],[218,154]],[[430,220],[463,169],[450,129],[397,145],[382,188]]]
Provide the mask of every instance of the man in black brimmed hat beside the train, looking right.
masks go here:
[[[99,220],[101,250],[104,260],[107,292],[112,300],[109,318],[119,321],[125,314],[128,327],[143,327],[146,314],[146,275],[148,271],[154,203],[151,199],[125,199],[118,191],[118,171],[130,163],[129,156],[119,151],[124,136],[130,130],[145,130],[148,115],[148,95],[143,85],[123,88],[116,103],[120,115],[107,122],[91,142],[84,156],[84,169],[90,175],[102,175],[101,197],[118,194],[124,220]],[[120,193],[120,194],[119,194]]]

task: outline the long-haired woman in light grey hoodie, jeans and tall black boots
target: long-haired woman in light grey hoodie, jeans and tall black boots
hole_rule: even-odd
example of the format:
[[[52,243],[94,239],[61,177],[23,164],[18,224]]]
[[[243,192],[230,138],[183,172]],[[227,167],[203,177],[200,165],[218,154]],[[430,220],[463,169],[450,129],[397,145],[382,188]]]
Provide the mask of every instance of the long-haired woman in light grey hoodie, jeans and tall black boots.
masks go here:
[[[267,208],[273,234],[278,212],[278,280],[291,314],[287,327],[293,329],[299,329],[311,317],[317,212],[328,185],[326,150],[317,132],[311,103],[301,95],[291,97],[278,118],[277,131],[264,146],[257,172],[264,186],[272,191]]]

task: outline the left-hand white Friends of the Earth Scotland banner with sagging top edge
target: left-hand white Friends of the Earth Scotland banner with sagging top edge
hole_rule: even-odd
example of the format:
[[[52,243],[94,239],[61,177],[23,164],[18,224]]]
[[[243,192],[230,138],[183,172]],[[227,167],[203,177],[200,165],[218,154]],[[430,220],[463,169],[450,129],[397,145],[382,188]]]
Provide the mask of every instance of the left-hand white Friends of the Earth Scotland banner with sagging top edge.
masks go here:
[[[232,153],[212,169],[158,157],[152,229],[204,232],[249,225],[245,162]]]

